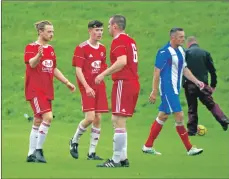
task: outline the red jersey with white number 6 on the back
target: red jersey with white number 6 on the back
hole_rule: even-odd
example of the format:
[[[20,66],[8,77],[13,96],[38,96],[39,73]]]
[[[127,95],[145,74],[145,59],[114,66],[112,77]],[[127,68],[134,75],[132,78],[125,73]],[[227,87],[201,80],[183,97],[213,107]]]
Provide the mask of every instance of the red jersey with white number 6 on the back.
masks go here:
[[[138,80],[137,47],[135,41],[127,34],[119,34],[113,39],[110,50],[111,64],[122,55],[127,56],[127,64],[122,70],[112,74],[112,80]]]

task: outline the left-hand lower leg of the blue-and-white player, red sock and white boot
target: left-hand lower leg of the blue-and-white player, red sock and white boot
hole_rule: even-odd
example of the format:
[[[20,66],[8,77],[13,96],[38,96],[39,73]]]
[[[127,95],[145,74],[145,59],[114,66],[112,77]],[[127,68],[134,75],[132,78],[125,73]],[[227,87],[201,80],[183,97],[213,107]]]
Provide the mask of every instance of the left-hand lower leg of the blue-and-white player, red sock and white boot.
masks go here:
[[[163,109],[162,109],[163,110]],[[165,110],[163,110],[165,111]],[[145,142],[145,145],[142,148],[142,151],[147,154],[161,155],[160,152],[157,152],[153,147],[154,141],[157,139],[165,121],[168,119],[169,114],[160,111],[156,120],[151,125],[150,133],[148,139]]]

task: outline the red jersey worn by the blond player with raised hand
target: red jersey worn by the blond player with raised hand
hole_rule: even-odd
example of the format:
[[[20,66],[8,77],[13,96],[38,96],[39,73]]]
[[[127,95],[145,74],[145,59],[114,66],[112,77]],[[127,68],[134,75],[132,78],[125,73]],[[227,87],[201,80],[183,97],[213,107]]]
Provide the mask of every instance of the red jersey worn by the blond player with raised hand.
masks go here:
[[[36,56],[40,44],[31,43],[26,46],[24,61],[26,64],[25,78],[25,97],[31,100],[39,95],[45,95],[47,99],[54,99],[53,76],[56,68],[56,55],[54,49],[50,45],[43,46],[43,55],[40,63],[31,68],[29,60]]]

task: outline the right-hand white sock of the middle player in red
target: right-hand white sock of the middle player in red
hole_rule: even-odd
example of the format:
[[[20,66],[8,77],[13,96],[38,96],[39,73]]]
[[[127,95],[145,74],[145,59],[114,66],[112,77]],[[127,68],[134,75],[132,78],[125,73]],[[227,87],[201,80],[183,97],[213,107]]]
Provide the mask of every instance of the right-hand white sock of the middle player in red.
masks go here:
[[[89,155],[95,152],[95,148],[98,144],[100,136],[100,129],[94,126],[91,127],[91,139],[90,139],[90,147],[89,147]]]

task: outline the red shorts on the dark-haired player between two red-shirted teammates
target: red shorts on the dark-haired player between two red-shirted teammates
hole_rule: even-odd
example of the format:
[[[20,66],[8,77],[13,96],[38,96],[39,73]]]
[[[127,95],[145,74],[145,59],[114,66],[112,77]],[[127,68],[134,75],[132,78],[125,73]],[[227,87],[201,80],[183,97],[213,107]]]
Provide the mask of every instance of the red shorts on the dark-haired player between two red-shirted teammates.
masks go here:
[[[82,97],[82,111],[95,111],[96,113],[108,112],[108,102],[105,84],[96,85],[93,87],[95,91],[95,98],[87,96],[84,88],[80,88]]]

